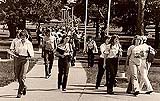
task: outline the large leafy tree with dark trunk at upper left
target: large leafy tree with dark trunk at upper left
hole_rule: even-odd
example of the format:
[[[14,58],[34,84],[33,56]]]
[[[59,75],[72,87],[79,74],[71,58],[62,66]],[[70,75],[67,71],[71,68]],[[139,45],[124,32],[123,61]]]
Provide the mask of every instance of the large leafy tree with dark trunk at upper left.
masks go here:
[[[60,19],[63,7],[61,0],[6,0],[0,5],[5,12],[5,22],[8,25],[10,37],[16,36],[16,29],[25,29],[26,20],[40,22],[47,19]]]

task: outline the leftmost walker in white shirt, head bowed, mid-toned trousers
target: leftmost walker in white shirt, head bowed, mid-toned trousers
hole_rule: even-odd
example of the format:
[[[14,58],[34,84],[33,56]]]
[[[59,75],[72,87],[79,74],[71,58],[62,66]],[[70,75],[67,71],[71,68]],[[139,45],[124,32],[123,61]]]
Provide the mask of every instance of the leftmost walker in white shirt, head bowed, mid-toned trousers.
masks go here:
[[[21,95],[26,95],[25,79],[29,66],[29,59],[34,57],[34,50],[32,43],[27,39],[28,33],[26,30],[22,30],[19,34],[20,40],[15,44],[15,55],[17,56],[17,65],[15,67],[16,78],[18,79],[19,88],[17,98],[21,98]]]

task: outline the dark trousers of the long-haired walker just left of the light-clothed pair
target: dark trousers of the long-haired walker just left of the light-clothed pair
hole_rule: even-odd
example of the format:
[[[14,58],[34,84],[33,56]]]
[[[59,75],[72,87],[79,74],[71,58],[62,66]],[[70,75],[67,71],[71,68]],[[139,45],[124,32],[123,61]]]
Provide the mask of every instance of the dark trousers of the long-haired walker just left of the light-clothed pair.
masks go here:
[[[112,92],[118,70],[118,58],[109,58],[106,60],[106,63],[106,68],[108,68],[109,71],[107,92]]]

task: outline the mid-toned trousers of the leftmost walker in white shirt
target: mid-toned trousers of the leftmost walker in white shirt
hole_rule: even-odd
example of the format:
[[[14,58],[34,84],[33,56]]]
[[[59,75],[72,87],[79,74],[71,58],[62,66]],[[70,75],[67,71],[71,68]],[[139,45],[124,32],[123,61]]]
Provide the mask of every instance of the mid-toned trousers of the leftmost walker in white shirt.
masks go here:
[[[25,57],[18,57],[16,61],[17,65],[15,66],[15,76],[19,83],[18,94],[22,94],[24,87],[26,87],[25,79],[29,66],[29,60]]]

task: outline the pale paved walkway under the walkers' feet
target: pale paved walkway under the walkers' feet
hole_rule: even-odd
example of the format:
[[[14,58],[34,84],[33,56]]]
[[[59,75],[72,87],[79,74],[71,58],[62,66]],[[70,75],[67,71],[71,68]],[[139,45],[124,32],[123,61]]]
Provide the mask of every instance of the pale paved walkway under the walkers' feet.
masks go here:
[[[27,74],[27,95],[15,98],[17,82],[0,88],[0,101],[158,101],[159,93],[140,94],[137,97],[125,93],[124,88],[116,87],[115,95],[106,94],[106,88],[95,90],[93,84],[86,84],[86,73],[79,62],[70,68],[67,91],[57,89],[57,60],[54,61],[52,76],[44,78],[43,60]]]

